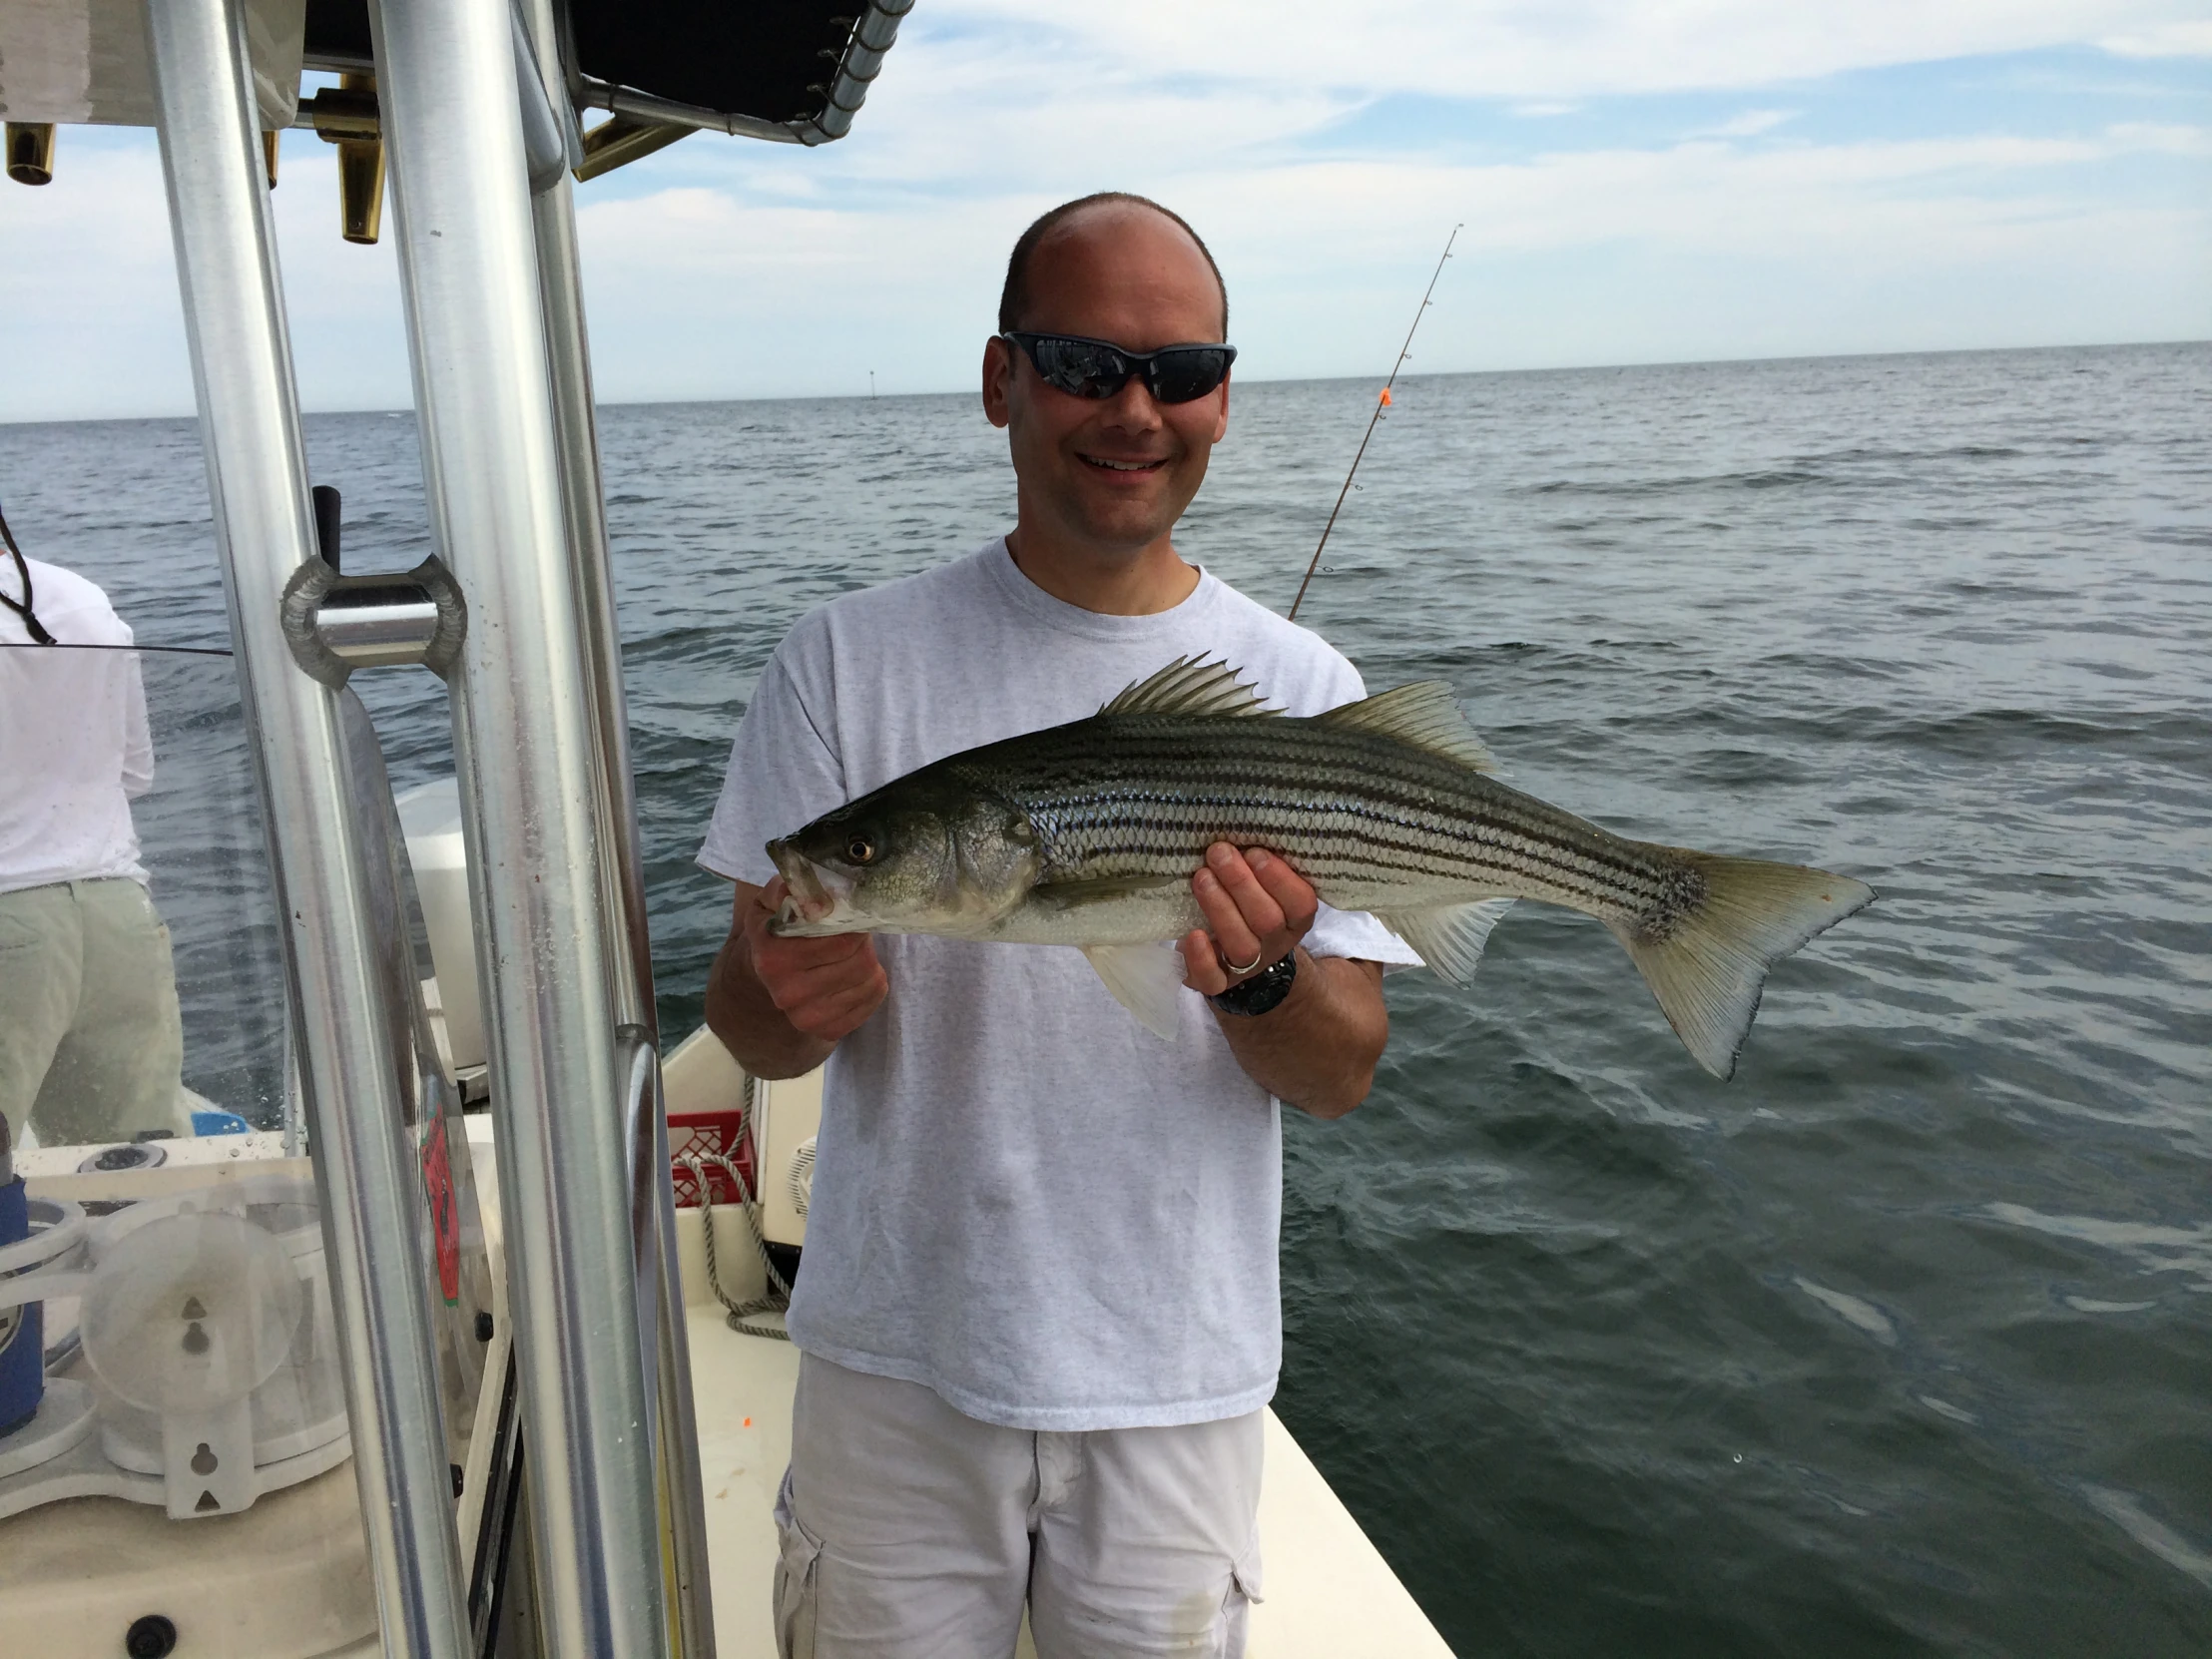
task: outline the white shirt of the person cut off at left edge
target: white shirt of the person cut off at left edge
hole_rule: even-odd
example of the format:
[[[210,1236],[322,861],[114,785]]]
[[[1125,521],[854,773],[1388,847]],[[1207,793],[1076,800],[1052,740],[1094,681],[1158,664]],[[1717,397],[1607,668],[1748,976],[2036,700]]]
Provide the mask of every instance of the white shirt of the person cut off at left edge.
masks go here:
[[[108,595],[58,564],[31,566],[31,602],[62,646],[33,646],[0,606],[0,894],[58,880],[146,880],[131,796],[153,785],[146,686]],[[0,588],[22,599],[0,551]]]

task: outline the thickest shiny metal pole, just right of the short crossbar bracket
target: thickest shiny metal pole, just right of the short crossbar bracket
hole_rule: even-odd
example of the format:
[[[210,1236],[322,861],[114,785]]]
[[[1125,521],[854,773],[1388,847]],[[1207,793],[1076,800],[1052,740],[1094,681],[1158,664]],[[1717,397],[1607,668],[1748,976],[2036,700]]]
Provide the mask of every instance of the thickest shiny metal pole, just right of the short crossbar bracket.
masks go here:
[[[509,0],[374,0],[449,677],[546,1650],[668,1652],[635,1318],[593,699]]]

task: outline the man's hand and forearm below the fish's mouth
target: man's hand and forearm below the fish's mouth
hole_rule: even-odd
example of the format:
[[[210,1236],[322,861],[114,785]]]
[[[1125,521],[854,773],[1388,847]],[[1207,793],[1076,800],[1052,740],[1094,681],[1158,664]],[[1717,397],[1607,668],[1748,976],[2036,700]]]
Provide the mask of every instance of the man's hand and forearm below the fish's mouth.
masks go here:
[[[783,878],[737,883],[730,938],[706,982],[706,1022],[754,1077],[812,1071],[889,995],[867,933],[776,938]]]

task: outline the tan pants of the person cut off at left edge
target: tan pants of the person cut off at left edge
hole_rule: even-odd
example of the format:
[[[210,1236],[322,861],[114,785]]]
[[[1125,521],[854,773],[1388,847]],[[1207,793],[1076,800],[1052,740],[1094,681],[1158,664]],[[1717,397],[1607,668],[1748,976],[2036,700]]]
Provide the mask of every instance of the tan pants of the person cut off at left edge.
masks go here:
[[[0,1113],[40,1146],[190,1133],[168,929],[135,880],[0,894]]]

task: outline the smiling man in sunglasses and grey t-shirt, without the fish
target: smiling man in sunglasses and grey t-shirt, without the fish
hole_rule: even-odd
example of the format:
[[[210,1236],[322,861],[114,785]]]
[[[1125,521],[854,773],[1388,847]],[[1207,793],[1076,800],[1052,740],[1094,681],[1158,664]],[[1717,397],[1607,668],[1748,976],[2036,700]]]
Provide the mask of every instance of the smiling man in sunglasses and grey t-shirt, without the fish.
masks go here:
[[[776,1524],[785,1659],[1241,1655],[1281,1367],[1279,1102],[1358,1106],[1383,962],[1279,858],[1210,849],[1177,1042],[1068,949],[785,940],[763,845],[945,754],[1082,719],[1177,657],[1292,714],[1358,672],[1172,542],[1228,431],[1228,290],[1130,195],[1015,243],[984,343],[1013,529],[776,648],[699,863],[737,883],[708,1024],[761,1077],[827,1062]]]

